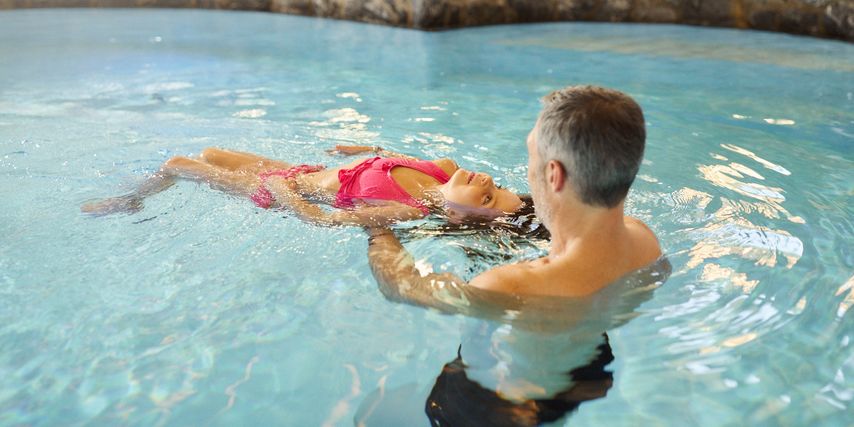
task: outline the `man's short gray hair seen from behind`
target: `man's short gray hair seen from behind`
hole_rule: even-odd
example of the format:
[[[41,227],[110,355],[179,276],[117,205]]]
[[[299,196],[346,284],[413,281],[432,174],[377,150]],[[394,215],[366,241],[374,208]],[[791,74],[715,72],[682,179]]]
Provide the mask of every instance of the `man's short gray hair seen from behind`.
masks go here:
[[[542,164],[559,161],[582,202],[617,206],[643,158],[640,106],[622,92],[598,86],[569,86],[542,101],[536,134]]]

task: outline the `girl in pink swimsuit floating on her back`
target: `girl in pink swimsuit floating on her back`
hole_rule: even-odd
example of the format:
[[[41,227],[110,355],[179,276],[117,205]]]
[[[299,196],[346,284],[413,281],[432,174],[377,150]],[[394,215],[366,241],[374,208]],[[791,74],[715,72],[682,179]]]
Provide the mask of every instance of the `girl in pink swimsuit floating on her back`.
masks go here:
[[[367,146],[339,145],[330,152],[375,157],[326,168],[207,148],[198,158],[169,159],[130,194],[87,203],[81,210],[95,215],[139,211],[145,197],[169,188],[176,178],[206,182],[246,196],[259,207],[288,208],[304,220],[326,225],[378,226],[431,212],[457,222],[490,220],[523,205],[489,175],[462,169],[450,159],[418,160]],[[327,211],[312,202],[342,209]]]

